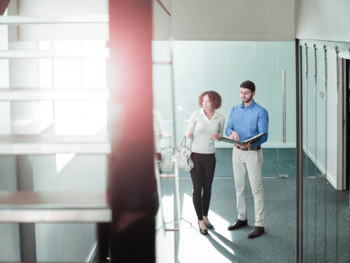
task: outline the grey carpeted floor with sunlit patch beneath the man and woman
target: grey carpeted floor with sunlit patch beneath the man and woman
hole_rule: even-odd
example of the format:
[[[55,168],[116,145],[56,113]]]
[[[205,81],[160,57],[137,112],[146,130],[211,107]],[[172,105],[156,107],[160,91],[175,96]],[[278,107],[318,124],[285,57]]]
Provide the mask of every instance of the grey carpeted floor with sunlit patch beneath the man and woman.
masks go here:
[[[295,149],[263,151],[266,233],[253,239],[246,237],[254,226],[253,196],[249,183],[246,189],[248,227],[228,231],[227,227],[237,218],[232,149],[219,149],[216,151],[217,166],[209,210],[209,219],[215,229],[209,230],[207,236],[200,234],[192,203],[190,173],[181,172],[179,188],[183,224],[179,232],[167,231],[164,234],[158,213],[157,262],[295,262]],[[305,163],[309,176],[320,173],[311,160],[306,162],[305,159]],[[282,166],[281,169],[279,164],[291,164],[293,168]],[[278,179],[279,174],[289,176]],[[162,208],[169,228],[178,227],[174,220],[174,192],[174,180],[163,179]],[[324,179],[304,176],[304,262],[349,262],[349,218],[349,191],[335,191]],[[186,222],[192,223],[192,227]]]

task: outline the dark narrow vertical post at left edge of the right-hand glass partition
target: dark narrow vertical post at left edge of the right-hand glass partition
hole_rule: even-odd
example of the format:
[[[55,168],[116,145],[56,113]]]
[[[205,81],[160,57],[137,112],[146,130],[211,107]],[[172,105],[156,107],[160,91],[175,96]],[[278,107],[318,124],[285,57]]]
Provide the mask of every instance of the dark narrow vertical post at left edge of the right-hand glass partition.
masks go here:
[[[299,40],[295,40],[295,88],[296,88],[296,262],[302,262],[302,60]]]

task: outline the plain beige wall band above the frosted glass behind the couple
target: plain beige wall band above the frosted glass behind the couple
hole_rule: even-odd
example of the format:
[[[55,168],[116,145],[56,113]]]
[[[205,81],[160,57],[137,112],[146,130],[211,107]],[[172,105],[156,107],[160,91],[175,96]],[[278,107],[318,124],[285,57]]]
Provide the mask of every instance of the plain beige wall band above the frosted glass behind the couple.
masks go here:
[[[294,41],[294,0],[172,0],[175,40]]]

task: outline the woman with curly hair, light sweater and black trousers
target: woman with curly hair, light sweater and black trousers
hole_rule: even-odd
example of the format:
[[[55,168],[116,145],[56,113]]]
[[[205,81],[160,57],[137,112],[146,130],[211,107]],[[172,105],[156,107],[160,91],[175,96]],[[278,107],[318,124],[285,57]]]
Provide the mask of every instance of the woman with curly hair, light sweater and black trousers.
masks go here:
[[[200,234],[208,234],[214,226],[208,218],[211,197],[211,184],[216,166],[214,140],[223,135],[225,118],[215,112],[221,107],[221,96],[215,91],[206,91],[199,97],[202,109],[193,112],[188,123],[186,136],[193,139],[192,161],[195,167],[190,170],[193,182],[193,205],[198,217]],[[203,194],[202,194],[203,189]]]

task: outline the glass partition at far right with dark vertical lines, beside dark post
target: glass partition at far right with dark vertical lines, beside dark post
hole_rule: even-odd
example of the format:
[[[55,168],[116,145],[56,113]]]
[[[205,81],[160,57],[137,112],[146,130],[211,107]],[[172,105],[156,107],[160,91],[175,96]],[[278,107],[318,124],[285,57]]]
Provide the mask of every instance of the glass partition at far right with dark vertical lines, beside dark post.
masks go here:
[[[348,43],[297,42],[302,95],[300,262],[349,262]],[[301,128],[302,127],[302,128]]]

